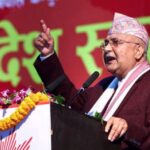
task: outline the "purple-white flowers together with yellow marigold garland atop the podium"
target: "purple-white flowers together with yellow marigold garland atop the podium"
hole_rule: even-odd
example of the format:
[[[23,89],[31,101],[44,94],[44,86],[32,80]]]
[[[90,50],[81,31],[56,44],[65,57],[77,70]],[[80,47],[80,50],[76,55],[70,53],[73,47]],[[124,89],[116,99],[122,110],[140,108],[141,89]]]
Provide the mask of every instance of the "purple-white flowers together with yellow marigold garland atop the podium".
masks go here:
[[[33,93],[31,89],[13,92],[5,90],[1,92],[0,105],[2,107],[16,103],[19,106],[10,116],[0,120],[0,131],[15,127],[30,113],[37,103],[49,100],[52,100],[50,95],[42,92]]]

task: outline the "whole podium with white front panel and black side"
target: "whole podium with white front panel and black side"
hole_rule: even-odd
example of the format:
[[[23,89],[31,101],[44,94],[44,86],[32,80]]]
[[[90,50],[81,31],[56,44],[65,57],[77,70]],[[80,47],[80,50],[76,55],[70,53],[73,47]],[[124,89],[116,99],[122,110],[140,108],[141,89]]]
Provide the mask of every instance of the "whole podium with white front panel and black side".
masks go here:
[[[16,109],[1,109],[0,119]],[[0,150],[119,150],[120,143],[109,142],[103,128],[92,117],[54,103],[41,103],[14,128],[0,132]]]

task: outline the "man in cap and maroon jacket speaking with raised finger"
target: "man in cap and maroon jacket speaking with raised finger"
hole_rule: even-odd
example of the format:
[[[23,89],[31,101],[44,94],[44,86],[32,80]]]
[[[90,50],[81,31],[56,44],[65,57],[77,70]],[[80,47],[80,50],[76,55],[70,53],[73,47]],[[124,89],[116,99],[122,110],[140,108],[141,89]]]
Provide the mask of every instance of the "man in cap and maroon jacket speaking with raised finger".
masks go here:
[[[50,29],[41,20],[42,32],[35,40],[41,56],[35,67],[45,86],[65,75],[54,52]],[[73,109],[94,115],[100,112],[107,122],[108,140],[122,137],[122,149],[150,149],[150,67],[147,62],[148,34],[131,17],[115,13],[112,28],[101,46],[106,69],[112,73],[79,96],[66,78],[54,90]]]

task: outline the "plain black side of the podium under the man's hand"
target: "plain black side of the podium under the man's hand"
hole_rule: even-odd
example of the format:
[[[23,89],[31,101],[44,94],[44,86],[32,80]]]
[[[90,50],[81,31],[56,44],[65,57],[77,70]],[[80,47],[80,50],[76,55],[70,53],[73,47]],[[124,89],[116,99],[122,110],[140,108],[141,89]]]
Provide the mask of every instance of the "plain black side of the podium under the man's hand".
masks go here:
[[[51,103],[52,150],[120,150],[94,118]]]

